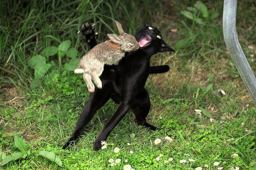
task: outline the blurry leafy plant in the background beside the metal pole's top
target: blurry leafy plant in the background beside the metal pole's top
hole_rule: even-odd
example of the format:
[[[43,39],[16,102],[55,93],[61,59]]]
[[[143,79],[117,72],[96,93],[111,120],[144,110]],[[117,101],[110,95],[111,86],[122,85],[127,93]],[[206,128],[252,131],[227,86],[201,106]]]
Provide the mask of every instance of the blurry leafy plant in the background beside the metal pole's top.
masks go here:
[[[194,7],[188,7],[188,10],[189,11],[181,11],[181,14],[202,25],[219,16],[218,12],[208,10],[207,6],[202,2],[197,2]]]

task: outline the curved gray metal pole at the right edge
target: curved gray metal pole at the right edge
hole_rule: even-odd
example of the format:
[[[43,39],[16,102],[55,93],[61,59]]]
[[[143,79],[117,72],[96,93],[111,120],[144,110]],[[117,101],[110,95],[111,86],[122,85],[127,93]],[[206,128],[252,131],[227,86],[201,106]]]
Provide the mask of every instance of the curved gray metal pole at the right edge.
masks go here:
[[[228,51],[256,106],[256,78],[236,35],[237,0],[224,0],[223,35]]]

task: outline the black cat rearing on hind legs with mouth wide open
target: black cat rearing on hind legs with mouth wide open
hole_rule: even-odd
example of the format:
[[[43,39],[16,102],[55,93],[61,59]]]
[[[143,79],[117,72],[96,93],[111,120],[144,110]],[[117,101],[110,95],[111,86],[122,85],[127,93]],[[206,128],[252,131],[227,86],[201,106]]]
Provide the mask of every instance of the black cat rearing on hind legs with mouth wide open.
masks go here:
[[[92,29],[93,28],[87,24],[87,26],[82,27],[81,31],[82,34],[86,34],[86,42],[89,50],[97,44]],[[150,57],[158,52],[174,50],[163,41],[162,35],[156,27],[145,25],[145,27],[135,34],[135,38],[139,42],[145,35],[151,38],[149,45],[139,48],[137,51],[126,53],[125,57],[117,66],[105,65],[103,73],[100,76],[102,89],[95,88],[95,92],[90,94],[89,100],[86,102],[78,119],[75,130],[70,139],[63,146],[63,149],[68,148],[71,143],[78,139],[84,127],[90,122],[97,110],[110,98],[116,103],[119,103],[119,106],[96,137],[93,150],[99,150],[101,148],[101,141],[107,139],[112,129],[122,120],[130,109],[133,110],[139,125],[145,126],[153,131],[157,129],[146,121],[150,109],[150,100],[144,85],[149,74],[166,72],[169,70],[169,66],[150,67],[149,61]]]

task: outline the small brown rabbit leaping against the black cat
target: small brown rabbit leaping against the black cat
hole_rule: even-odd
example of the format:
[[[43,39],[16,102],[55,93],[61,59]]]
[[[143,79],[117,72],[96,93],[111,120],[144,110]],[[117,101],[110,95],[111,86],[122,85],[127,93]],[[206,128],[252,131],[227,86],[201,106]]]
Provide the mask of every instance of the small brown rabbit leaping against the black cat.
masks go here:
[[[87,52],[74,71],[83,74],[84,81],[91,93],[95,90],[91,79],[98,88],[102,88],[99,76],[102,74],[104,64],[118,64],[119,60],[124,57],[125,52],[131,52],[139,48],[134,36],[124,33],[121,23],[115,22],[120,35],[108,34],[110,40],[94,46]]]

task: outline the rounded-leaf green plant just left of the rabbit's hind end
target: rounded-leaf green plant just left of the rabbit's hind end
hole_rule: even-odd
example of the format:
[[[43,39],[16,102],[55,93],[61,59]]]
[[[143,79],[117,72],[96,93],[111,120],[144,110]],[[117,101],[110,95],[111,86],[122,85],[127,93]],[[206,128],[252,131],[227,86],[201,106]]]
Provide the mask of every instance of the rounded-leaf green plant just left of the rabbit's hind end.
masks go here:
[[[39,79],[52,67],[55,66],[55,62],[49,62],[49,56],[58,55],[58,68],[61,68],[61,60],[66,55],[71,58],[69,63],[64,64],[64,69],[68,71],[74,71],[78,66],[79,59],[76,58],[77,50],[76,48],[70,48],[71,41],[63,41],[59,44],[59,46],[49,46],[46,47],[41,55],[32,56],[31,59],[28,60],[28,65],[35,70],[35,78]]]

